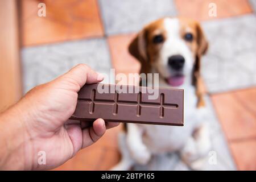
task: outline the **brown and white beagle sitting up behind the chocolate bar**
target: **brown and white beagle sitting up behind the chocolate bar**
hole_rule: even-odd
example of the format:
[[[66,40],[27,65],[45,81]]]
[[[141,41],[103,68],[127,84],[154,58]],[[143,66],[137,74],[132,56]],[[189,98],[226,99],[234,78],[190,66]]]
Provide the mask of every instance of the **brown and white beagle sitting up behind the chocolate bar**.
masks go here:
[[[130,43],[129,52],[141,63],[141,73],[159,73],[159,86],[184,89],[184,126],[128,123],[118,136],[121,161],[113,170],[147,164],[152,155],[178,152],[191,168],[208,156],[211,144],[204,114],[201,56],[208,42],[198,22],[162,18],[148,24]],[[197,166],[197,167],[195,167]]]

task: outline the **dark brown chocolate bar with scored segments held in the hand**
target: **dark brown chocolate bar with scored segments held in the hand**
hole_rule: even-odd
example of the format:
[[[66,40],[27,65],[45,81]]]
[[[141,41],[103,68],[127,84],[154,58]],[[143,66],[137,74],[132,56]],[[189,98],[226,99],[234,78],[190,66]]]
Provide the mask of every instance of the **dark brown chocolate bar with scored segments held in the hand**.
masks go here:
[[[78,93],[71,119],[183,126],[183,90],[88,84]]]

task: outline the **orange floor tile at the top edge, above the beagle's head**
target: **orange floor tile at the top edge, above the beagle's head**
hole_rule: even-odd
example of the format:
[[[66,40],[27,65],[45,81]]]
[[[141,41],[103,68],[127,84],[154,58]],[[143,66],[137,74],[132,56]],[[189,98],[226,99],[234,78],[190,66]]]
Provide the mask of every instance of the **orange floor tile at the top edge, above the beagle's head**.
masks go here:
[[[252,12],[247,0],[175,0],[175,3],[179,15],[197,20],[228,18]],[[209,3],[217,5],[217,17],[210,17],[208,15]]]

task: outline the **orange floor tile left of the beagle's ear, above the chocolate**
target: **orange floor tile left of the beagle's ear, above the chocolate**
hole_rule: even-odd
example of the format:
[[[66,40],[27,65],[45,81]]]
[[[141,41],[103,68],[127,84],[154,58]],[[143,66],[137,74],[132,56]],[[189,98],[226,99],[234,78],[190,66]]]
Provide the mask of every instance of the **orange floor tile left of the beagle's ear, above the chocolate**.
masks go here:
[[[141,68],[138,60],[128,52],[128,46],[135,34],[116,35],[108,38],[112,65],[116,73],[138,73]]]

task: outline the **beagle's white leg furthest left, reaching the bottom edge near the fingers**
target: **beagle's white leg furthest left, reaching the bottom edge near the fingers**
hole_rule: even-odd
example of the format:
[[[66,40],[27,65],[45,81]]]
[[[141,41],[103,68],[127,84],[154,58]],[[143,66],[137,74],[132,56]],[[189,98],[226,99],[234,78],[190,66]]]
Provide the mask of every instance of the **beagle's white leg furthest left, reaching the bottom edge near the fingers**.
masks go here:
[[[110,169],[112,171],[126,171],[129,170],[134,164],[127,147],[126,138],[127,135],[125,132],[122,131],[118,134],[118,147],[119,151],[121,152],[121,160],[116,166]]]

